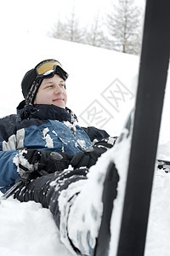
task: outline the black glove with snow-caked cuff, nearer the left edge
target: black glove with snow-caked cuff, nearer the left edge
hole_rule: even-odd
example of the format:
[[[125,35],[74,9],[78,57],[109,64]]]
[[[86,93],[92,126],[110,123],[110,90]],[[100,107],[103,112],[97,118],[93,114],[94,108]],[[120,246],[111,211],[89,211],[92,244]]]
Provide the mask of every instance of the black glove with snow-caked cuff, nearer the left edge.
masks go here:
[[[40,177],[47,173],[63,171],[70,165],[71,154],[38,151],[34,149],[20,150],[14,157],[20,177]]]

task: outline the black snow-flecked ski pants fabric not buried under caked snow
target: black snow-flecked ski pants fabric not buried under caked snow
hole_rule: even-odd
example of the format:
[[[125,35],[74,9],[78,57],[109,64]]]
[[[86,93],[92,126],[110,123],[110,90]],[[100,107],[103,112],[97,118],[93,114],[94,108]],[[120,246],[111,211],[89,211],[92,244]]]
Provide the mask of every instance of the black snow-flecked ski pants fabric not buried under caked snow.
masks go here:
[[[60,212],[58,198],[63,189],[67,189],[71,183],[87,179],[87,168],[54,172],[31,180],[22,189],[14,193],[14,198],[19,201],[36,201],[42,207],[48,208],[54,216],[54,222],[59,228]]]

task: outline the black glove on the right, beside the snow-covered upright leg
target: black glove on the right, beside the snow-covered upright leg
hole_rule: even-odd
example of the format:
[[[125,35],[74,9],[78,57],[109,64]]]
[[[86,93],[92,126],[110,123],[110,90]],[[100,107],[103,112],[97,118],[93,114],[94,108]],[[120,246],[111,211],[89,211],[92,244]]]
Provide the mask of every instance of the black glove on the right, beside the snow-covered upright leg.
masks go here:
[[[94,166],[99,156],[113,145],[107,143],[106,140],[95,143],[93,147],[87,148],[84,151],[78,152],[71,160],[71,166],[79,168],[82,166],[90,167]]]

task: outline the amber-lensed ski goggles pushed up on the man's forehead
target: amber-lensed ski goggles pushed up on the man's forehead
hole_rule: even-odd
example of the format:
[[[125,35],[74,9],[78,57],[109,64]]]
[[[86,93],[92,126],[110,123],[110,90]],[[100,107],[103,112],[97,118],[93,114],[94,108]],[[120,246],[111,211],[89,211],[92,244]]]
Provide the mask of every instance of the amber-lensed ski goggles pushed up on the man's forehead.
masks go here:
[[[53,59],[40,62],[35,67],[35,70],[37,72],[36,79],[48,79],[54,77],[54,74],[59,74],[61,79],[66,80],[69,76],[59,61]]]

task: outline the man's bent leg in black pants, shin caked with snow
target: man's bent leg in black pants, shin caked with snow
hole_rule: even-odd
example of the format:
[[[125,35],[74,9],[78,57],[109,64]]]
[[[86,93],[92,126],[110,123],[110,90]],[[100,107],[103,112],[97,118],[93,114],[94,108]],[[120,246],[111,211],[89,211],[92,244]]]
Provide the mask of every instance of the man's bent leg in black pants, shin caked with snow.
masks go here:
[[[60,240],[73,255],[91,255],[94,251],[103,214],[106,173],[100,173],[98,168],[88,178],[87,173],[88,169],[81,168],[48,174],[31,181],[14,195],[20,201],[36,201],[49,208],[59,228]],[[116,191],[117,172],[115,177]]]

